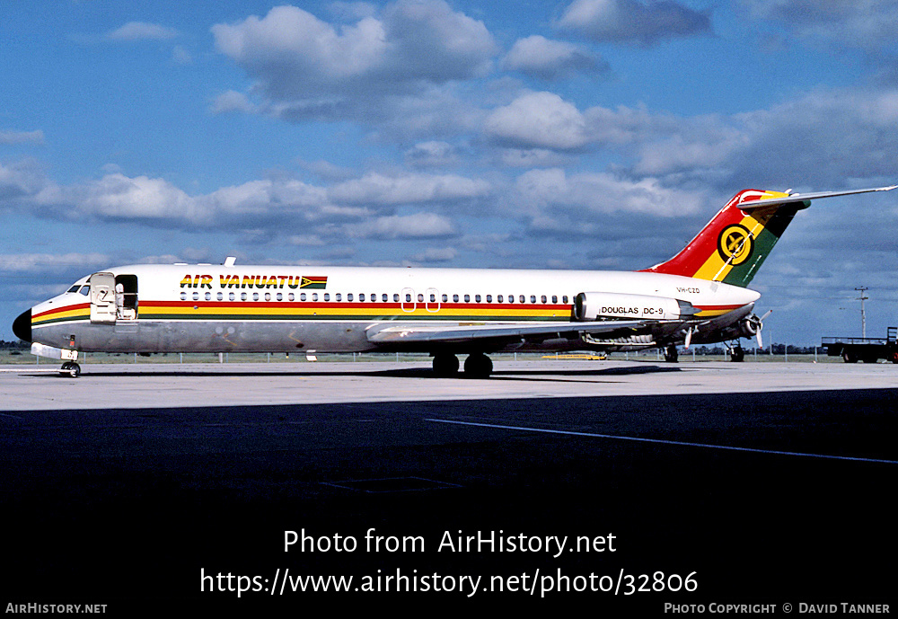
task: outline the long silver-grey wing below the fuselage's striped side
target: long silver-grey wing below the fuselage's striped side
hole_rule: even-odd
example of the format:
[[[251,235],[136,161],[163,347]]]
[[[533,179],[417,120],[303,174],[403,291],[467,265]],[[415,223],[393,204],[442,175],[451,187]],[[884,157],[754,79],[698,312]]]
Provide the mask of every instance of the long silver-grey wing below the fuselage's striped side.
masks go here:
[[[656,321],[601,321],[592,323],[480,323],[436,325],[420,323],[374,325],[368,329],[368,341],[392,346],[402,344],[464,344],[471,342],[501,344],[524,340],[577,338],[579,333],[602,333],[609,338],[632,335]]]

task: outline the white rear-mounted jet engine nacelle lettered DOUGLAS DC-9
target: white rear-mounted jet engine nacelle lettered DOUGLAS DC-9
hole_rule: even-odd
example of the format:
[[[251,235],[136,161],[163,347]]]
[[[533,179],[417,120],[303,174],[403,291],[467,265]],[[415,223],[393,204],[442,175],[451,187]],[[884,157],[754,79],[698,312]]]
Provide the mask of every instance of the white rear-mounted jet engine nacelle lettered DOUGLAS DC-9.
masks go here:
[[[684,320],[699,310],[688,301],[669,296],[625,295],[616,292],[581,292],[574,297],[574,319]]]

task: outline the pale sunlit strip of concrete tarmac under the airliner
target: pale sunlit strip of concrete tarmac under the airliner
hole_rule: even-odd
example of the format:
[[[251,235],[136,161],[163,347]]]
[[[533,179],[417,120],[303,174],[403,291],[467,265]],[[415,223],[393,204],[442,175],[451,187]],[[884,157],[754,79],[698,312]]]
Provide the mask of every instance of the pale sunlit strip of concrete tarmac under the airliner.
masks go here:
[[[436,378],[428,362],[0,367],[7,410],[726,394],[898,387],[892,364],[497,361],[489,380]]]

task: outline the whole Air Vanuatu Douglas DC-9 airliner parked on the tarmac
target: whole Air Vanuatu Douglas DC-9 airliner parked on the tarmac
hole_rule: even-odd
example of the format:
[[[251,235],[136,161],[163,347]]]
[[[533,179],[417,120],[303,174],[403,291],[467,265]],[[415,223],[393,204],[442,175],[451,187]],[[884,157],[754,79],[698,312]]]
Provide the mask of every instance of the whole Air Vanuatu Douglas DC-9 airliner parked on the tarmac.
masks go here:
[[[681,252],[638,271],[137,264],[92,273],[13,322],[79,376],[80,352],[427,352],[436,376],[487,377],[490,353],[664,349],[758,339],[748,284],[813,199],[742,190]]]

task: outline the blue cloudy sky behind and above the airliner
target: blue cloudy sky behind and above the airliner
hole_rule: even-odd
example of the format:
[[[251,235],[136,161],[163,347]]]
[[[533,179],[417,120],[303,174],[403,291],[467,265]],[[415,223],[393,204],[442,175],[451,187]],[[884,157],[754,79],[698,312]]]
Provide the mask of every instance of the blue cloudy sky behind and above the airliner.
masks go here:
[[[7,3],[0,337],[134,262],[636,270],[737,190],[898,182],[898,3]],[[898,191],[797,217],[776,340],[898,320]]]

